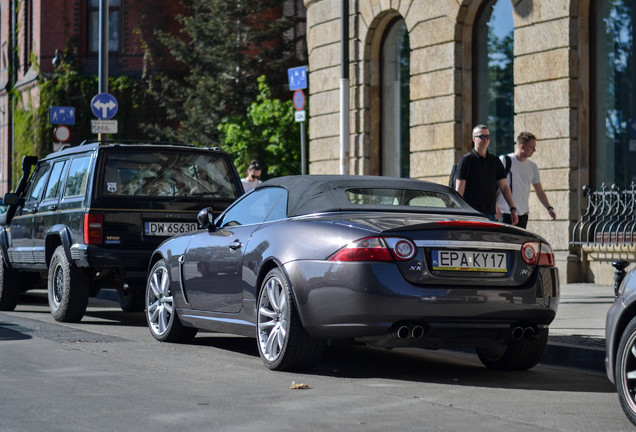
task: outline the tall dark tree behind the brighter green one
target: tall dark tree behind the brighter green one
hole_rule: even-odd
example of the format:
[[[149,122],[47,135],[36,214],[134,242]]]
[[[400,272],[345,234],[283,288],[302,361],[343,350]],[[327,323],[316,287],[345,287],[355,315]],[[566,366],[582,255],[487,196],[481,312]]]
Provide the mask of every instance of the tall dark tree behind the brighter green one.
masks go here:
[[[258,93],[256,78],[270,77],[276,92],[295,66],[294,44],[283,35],[294,25],[282,17],[280,0],[181,0],[181,33],[158,32],[181,71],[162,74],[152,90],[168,124],[148,124],[156,138],[212,146],[218,125],[244,113]],[[296,64],[295,64],[296,63]]]

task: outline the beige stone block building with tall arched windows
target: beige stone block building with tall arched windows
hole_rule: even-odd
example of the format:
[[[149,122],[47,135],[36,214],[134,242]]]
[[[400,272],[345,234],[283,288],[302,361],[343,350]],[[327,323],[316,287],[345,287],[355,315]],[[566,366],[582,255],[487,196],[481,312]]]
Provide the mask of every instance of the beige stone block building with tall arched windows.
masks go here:
[[[612,260],[636,261],[633,231],[572,241],[584,186],[636,180],[633,0],[348,1],[350,174],[446,184],[475,124],[490,124],[497,154],[530,131],[558,219],[531,196],[528,228],[553,245],[563,281],[612,284]],[[338,173],[341,3],[305,6],[310,173]]]

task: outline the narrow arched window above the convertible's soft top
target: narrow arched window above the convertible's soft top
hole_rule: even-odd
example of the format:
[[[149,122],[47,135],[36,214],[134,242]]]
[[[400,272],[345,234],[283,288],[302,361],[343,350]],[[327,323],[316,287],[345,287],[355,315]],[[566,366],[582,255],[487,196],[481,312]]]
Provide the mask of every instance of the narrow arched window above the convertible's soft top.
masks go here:
[[[380,174],[409,177],[410,45],[403,19],[388,27],[382,43]]]

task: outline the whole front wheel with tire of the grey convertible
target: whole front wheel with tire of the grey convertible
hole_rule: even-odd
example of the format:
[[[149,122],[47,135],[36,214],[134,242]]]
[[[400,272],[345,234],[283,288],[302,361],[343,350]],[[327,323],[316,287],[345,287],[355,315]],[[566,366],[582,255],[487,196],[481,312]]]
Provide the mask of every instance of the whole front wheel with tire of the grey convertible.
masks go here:
[[[170,274],[164,260],[155,263],[146,284],[146,321],[152,336],[161,342],[190,342],[198,329],[184,326],[174,307]]]

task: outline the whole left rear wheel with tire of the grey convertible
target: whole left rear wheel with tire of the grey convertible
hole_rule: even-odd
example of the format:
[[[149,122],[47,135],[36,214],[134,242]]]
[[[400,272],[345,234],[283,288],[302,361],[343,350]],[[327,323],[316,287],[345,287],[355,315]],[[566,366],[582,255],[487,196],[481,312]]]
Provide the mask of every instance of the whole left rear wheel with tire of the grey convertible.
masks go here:
[[[265,366],[272,370],[314,367],[323,345],[302,327],[289,282],[280,269],[271,270],[265,277],[257,308],[258,352]]]

